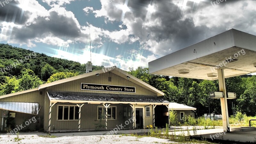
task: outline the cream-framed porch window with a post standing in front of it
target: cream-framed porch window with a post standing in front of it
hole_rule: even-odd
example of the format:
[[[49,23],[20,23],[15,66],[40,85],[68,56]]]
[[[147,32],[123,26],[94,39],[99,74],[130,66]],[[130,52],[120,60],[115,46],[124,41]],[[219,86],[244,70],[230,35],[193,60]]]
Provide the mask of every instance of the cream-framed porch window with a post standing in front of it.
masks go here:
[[[108,107],[108,119],[116,120],[116,106]],[[98,120],[105,119],[105,107],[98,106]]]

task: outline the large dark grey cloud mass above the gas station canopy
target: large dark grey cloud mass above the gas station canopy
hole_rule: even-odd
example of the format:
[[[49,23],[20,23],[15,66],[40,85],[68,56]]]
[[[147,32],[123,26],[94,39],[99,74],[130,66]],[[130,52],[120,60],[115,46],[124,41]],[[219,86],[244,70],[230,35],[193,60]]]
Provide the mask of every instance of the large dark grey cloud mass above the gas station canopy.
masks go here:
[[[246,7],[248,5],[246,1],[227,0],[225,2],[224,0],[217,6],[212,6],[211,1],[213,2],[213,0],[200,3],[188,1],[186,8],[183,8],[178,6],[178,3],[183,2],[179,0],[129,0],[128,7],[131,11],[126,12],[124,24],[129,25],[132,34],[140,38],[140,42],[143,43],[141,48],[153,47],[154,50],[151,49],[151,51],[159,56],[200,42],[231,28],[246,31],[248,30],[246,25],[254,24],[255,11],[246,13],[247,16],[252,17],[245,18],[248,21],[244,21],[244,23],[237,21],[231,23],[233,19],[237,19],[238,13],[225,12],[226,7],[229,8],[229,11],[231,7],[233,10],[243,9],[238,5],[243,3],[243,6]],[[122,10],[116,10],[115,3],[124,4],[124,2],[125,0],[113,1],[108,4],[105,16],[109,19],[122,20],[120,19]],[[156,9],[150,18],[147,17],[149,4],[154,5]],[[224,6],[225,8],[223,8]],[[220,23],[222,21],[223,23]],[[164,45],[157,46],[161,43]]]

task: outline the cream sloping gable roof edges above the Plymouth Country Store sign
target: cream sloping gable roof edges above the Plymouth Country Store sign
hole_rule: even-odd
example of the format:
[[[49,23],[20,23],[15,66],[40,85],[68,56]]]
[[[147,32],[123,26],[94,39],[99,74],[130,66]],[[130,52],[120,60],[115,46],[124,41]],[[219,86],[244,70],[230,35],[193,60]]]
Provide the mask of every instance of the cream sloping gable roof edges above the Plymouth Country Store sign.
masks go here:
[[[121,70],[119,68],[117,68],[116,66],[113,67],[109,67],[109,68],[105,68],[103,70],[98,70],[98,71],[94,71],[94,72],[89,72],[89,73],[84,73],[78,76],[74,76],[71,78],[67,78],[67,79],[63,79],[63,80],[57,80],[51,83],[46,83],[46,84],[42,84],[40,85],[38,88],[34,88],[34,89],[29,89],[29,90],[25,90],[25,91],[21,91],[21,92],[16,92],[16,93],[12,93],[12,94],[8,94],[8,95],[2,95],[0,96],[1,98],[5,98],[5,97],[9,97],[9,96],[13,96],[13,95],[20,95],[20,94],[24,94],[24,93],[28,93],[28,92],[32,92],[32,91],[36,91],[36,90],[40,90],[40,89],[44,89],[46,87],[50,87],[50,86],[54,86],[54,85],[58,85],[61,83],[65,83],[65,82],[69,82],[69,81],[73,81],[73,80],[78,80],[78,79],[82,79],[82,78],[86,78],[86,77],[90,77],[96,74],[101,74],[101,73],[106,73],[106,72],[112,72],[126,80],[129,80],[133,83],[136,83],[137,85],[144,87],[154,93],[157,94],[157,96],[163,96],[164,93],[161,92],[160,90],[156,89],[155,87],[150,86],[149,84],[145,83],[144,81],[132,76],[131,74],[129,74],[128,72],[125,72],[124,70]],[[127,76],[130,77],[130,79],[127,79]]]

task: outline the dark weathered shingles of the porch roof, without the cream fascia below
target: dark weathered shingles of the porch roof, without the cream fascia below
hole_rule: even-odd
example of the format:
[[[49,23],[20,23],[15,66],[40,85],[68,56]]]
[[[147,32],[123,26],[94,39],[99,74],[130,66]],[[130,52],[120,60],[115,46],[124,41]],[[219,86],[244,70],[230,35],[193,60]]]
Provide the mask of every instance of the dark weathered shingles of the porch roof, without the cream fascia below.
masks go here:
[[[162,96],[105,94],[68,91],[47,91],[50,100],[77,100],[77,101],[103,101],[103,102],[164,102]]]

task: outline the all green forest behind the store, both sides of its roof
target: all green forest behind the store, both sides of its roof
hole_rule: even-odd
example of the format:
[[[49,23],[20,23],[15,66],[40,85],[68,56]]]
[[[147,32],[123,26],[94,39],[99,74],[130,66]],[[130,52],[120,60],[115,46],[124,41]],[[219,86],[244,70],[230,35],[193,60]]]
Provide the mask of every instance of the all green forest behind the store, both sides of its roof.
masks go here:
[[[86,63],[86,62],[84,62]],[[104,66],[93,66],[93,71]],[[49,57],[30,50],[0,44],[0,95],[36,88],[85,73],[85,64]],[[130,68],[130,74],[163,91],[170,102],[184,103],[197,108],[196,115],[221,114],[220,99],[209,99],[208,92],[218,91],[218,81],[196,80],[148,74],[148,68]],[[256,76],[244,75],[226,79],[227,92],[235,92],[237,99],[228,100],[229,115],[236,111],[255,116]]]

